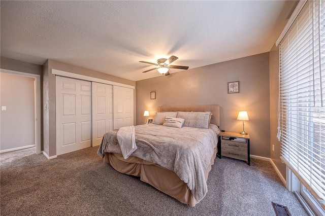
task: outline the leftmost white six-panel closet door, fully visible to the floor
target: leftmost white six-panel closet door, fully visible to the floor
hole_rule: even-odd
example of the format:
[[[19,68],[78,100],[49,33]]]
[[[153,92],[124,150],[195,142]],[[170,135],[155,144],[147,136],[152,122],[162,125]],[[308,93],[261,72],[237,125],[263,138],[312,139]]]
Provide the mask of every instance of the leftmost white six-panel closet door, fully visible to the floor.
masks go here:
[[[91,147],[91,82],[58,77],[56,155]]]

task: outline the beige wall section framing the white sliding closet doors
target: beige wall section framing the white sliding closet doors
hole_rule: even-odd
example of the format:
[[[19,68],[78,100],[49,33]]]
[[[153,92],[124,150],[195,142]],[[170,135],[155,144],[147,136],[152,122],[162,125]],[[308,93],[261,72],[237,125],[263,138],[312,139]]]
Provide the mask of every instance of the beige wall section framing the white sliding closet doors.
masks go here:
[[[43,110],[44,110],[44,151],[49,156],[56,155],[56,129],[55,129],[55,75],[52,74],[52,69],[58,69],[67,71],[74,74],[84,75],[88,77],[94,77],[103,80],[109,80],[112,82],[127,84],[131,86],[136,86],[135,81],[126,80],[118,77],[114,77],[111,75],[103,74],[98,71],[81,68],[74,65],[69,65],[66,63],[47,60],[43,65]],[[136,94],[135,94],[136,101]],[[136,103],[135,103],[136,104]],[[45,105],[47,105],[48,109],[44,109]],[[135,105],[136,107],[136,105]],[[135,122],[136,122],[136,114],[135,114]]]

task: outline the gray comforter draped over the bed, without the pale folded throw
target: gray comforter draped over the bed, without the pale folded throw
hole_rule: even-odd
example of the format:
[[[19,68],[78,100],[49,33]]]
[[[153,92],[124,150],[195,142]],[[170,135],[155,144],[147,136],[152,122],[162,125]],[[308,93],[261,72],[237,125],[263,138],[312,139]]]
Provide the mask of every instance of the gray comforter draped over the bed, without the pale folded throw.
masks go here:
[[[145,124],[135,126],[135,131],[137,150],[131,156],[173,170],[187,184],[194,198],[201,201],[208,191],[204,172],[217,147],[218,127],[210,124],[208,129],[174,128]],[[98,150],[102,158],[106,152],[122,154],[116,133],[117,130],[112,130],[104,135]]]

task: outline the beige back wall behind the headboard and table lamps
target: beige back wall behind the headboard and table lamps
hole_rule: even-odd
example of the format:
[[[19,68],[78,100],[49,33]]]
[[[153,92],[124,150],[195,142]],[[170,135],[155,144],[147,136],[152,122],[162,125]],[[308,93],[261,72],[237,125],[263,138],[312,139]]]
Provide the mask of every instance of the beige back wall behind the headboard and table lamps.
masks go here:
[[[149,110],[153,118],[161,105],[219,104],[220,129],[241,132],[242,122],[237,115],[246,110],[250,154],[269,158],[269,77],[269,53],[263,53],[137,81],[137,124],[145,123],[144,110]],[[232,81],[240,81],[240,93],[227,93],[227,83]],[[156,99],[150,99],[150,91],[156,91]]]

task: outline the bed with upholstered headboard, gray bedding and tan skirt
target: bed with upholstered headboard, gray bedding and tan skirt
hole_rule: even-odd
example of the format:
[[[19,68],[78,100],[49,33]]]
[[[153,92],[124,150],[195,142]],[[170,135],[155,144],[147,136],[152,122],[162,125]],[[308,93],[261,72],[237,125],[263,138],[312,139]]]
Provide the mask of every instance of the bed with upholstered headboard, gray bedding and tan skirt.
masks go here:
[[[164,124],[159,123],[165,113],[175,112],[177,116],[171,119],[184,117],[181,128],[166,127],[165,117]],[[205,128],[192,127],[186,121],[196,114],[205,116],[206,121],[204,113],[209,113]],[[115,170],[139,176],[141,181],[193,207],[206,195],[211,166],[216,156],[220,158],[219,116],[219,105],[159,106],[153,123],[134,126],[137,149],[131,156],[125,159],[122,155],[118,130],[104,135],[98,154]]]

